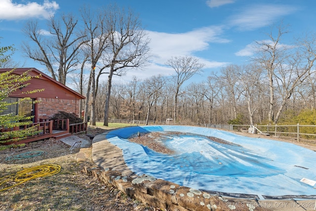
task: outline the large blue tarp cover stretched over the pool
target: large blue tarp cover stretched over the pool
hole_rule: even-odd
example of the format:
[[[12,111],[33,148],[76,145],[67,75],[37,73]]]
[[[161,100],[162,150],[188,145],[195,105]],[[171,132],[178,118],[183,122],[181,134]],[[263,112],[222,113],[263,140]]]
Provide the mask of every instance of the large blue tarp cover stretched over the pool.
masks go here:
[[[162,142],[173,154],[158,153],[127,140],[138,132],[166,131],[183,133]],[[221,138],[231,144],[204,136]],[[106,138],[122,149],[126,165],[138,175],[224,193],[316,195],[315,184],[300,181],[316,180],[316,152],[295,144],[185,126],[124,127],[112,130]]]

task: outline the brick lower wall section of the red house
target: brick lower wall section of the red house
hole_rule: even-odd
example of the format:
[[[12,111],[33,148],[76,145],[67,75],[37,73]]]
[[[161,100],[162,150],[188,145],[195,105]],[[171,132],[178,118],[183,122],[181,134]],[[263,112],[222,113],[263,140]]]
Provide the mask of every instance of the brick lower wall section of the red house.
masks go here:
[[[65,100],[55,98],[38,98],[38,117],[40,119],[49,119],[59,111],[74,113],[79,117],[79,100]]]

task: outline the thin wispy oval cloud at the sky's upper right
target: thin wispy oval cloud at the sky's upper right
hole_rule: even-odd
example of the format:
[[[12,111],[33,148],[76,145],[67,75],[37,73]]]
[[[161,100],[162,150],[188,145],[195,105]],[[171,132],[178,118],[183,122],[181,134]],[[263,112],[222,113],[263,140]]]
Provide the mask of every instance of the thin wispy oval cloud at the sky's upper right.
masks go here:
[[[240,30],[255,30],[271,25],[277,18],[289,15],[296,10],[296,7],[290,5],[253,5],[232,16],[230,24]]]

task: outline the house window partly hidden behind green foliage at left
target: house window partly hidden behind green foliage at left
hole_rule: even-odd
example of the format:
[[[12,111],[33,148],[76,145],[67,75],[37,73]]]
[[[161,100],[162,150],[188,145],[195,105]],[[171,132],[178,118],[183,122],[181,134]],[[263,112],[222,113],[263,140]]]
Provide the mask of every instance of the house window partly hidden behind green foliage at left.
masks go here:
[[[0,115],[13,113],[14,115],[30,117],[34,116],[34,99],[21,100],[22,98],[17,97],[6,97],[4,98],[5,102],[10,103],[11,105],[7,106],[7,109],[3,112],[0,112]],[[18,102],[18,103],[16,103]],[[32,121],[34,118],[32,118]]]

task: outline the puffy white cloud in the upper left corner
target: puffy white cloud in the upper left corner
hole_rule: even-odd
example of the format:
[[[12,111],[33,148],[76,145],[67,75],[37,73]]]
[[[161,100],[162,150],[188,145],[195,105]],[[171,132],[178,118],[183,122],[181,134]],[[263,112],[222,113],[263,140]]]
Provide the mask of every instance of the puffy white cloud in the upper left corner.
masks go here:
[[[59,8],[56,1],[44,0],[43,4],[28,2],[13,3],[12,0],[0,0],[0,20],[19,20],[26,18],[49,18]]]

